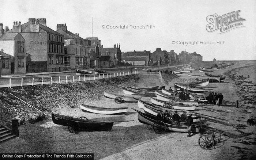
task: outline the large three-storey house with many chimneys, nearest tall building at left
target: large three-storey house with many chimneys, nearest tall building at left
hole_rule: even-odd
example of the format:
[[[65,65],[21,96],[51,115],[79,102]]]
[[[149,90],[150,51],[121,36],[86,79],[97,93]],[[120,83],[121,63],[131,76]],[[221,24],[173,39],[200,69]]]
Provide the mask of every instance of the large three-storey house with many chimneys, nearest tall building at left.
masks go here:
[[[45,18],[29,18],[4,34],[20,33],[26,43],[26,72],[56,72],[64,70],[64,36],[46,26]]]

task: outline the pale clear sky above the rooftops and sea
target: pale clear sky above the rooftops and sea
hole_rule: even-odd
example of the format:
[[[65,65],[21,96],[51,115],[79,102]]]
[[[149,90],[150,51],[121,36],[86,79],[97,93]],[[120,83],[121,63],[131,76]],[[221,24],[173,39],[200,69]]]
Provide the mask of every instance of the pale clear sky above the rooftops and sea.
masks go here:
[[[0,23],[9,29],[14,21],[46,18],[53,30],[66,23],[69,31],[86,38],[93,24],[93,37],[103,47],[118,43],[122,52],[161,48],[178,54],[187,48],[203,61],[256,60],[255,0],[0,0],[0,8]],[[225,33],[206,30],[208,15],[238,10],[245,19],[242,27]]]

